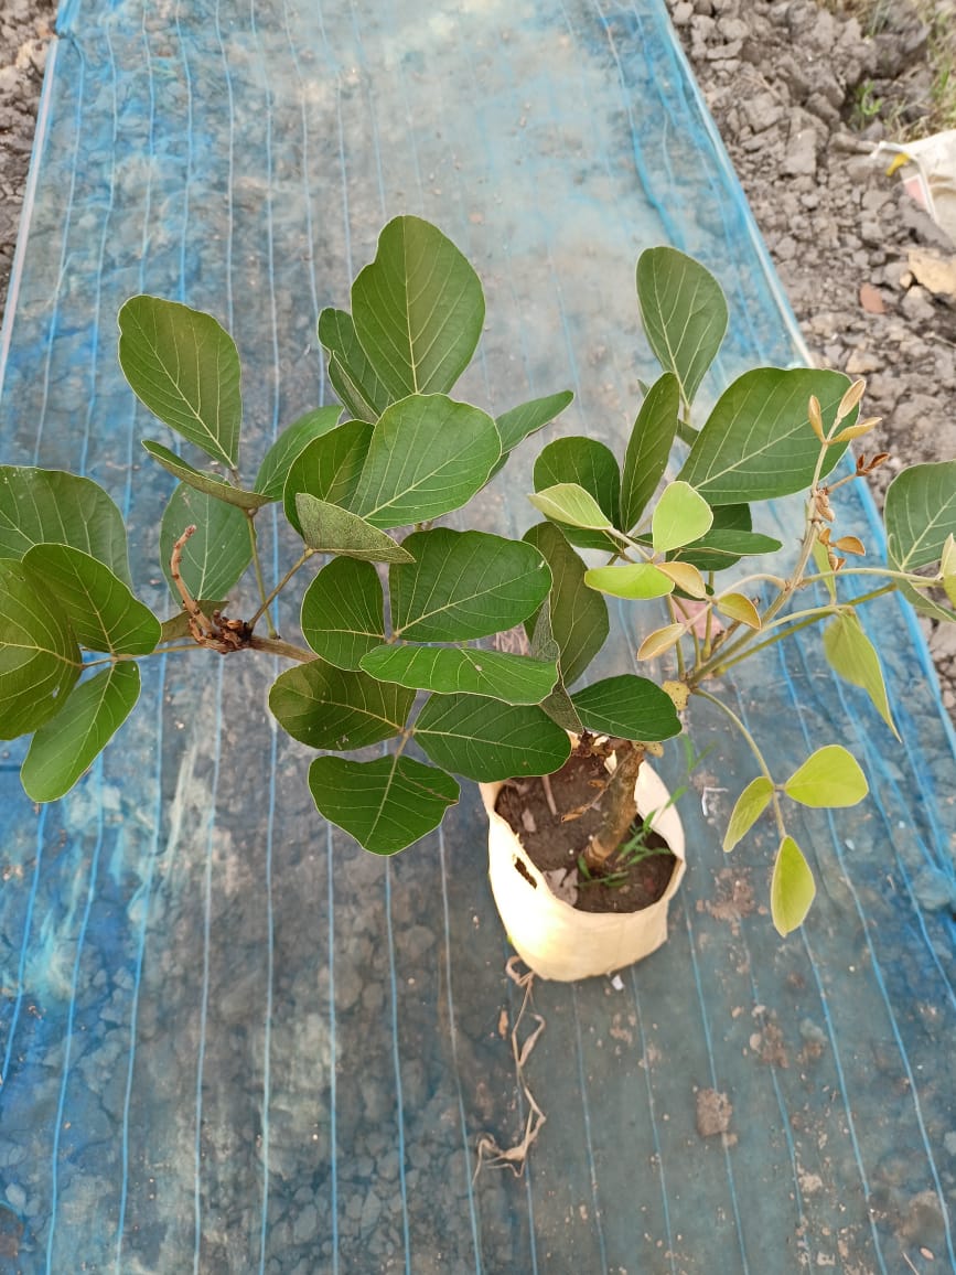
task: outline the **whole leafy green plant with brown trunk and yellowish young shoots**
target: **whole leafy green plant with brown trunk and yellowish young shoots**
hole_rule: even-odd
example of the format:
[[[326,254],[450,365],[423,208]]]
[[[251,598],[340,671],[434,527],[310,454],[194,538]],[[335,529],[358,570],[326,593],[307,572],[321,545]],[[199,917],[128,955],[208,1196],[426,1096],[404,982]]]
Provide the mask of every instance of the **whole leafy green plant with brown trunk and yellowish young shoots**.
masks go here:
[[[901,472],[886,495],[888,565],[848,565],[863,546],[834,527],[830,495],[883,459],[859,455],[837,468],[874,425],[859,419],[862,382],[757,368],[720,395],[697,431],[690,409],[727,326],[720,288],[690,258],[658,247],[640,258],[637,297],[663,372],[622,463],[593,439],[546,446],[530,496],[546,521],[520,541],[433,523],[465,506],[572,395],[497,418],[451,397],[477,348],[484,300],[465,258],[427,222],[390,222],[353,283],[351,312],[322,311],[319,338],[342,404],[288,426],[251,482],[238,467],[240,358],[229,335],[184,305],[127,301],[122,371],[205,463],[143,442],[178,481],[159,530],[177,611],[161,620],[134,595],[126,528],[101,487],[64,470],[0,468],[0,736],[33,736],[22,766],[28,796],[52,801],[78,782],[134,708],[140,659],[201,648],[231,660],[266,653],[289,662],[269,706],[316,752],[315,805],[367,850],[394,854],[435,829],[459,798],[455,776],[551,775],[557,799],[566,764],[577,760],[590,768],[593,830],[574,862],[581,856],[589,876],[619,878],[617,848],[646,815],[635,803],[645,755],[681,732],[688,697],[700,696],[743,731],[757,770],[724,848],[772,810],[772,917],[781,933],[798,926],[813,881],[783,798],[851,805],[867,782],[836,743],[774,776],[716,680],[821,623],[832,667],[869,692],[894,729],[857,608],[900,589],[955,618],[938,590],[956,603],[956,462]],[[667,482],[676,450],[682,460]],[[799,551],[781,569],[780,542],[752,529],[750,506],[797,492],[806,493]],[[300,544],[274,588],[259,550],[259,515],[270,504]],[[605,565],[586,565],[577,550],[605,553]],[[756,570],[744,570],[744,558]],[[224,599],[250,567],[257,604],[235,615]],[[841,601],[840,581],[860,574],[873,589]],[[303,580],[297,643],[279,636],[273,604]],[[822,599],[807,599],[813,584]],[[660,685],[619,673],[571,690],[607,638],[603,594],[664,599],[668,622],[637,650],[651,669],[670,662]],[[509,649],[500,635],[515,629],[524,646]],[[386,741],[387,751],[376,747]],[[342,756],[362,750],[371,751]],[[558,802],[558,812],[574,824],[583,810]]]

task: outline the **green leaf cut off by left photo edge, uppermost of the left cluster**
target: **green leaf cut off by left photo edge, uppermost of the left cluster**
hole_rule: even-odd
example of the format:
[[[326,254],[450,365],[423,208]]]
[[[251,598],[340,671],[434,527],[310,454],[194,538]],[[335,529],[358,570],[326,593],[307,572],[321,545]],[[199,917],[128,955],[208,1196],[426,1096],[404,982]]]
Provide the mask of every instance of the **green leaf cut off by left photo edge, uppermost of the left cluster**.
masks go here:
[[[102,487],[60,469],[0,465],[0,557],[71,544],[130,584],[122,514]]]

